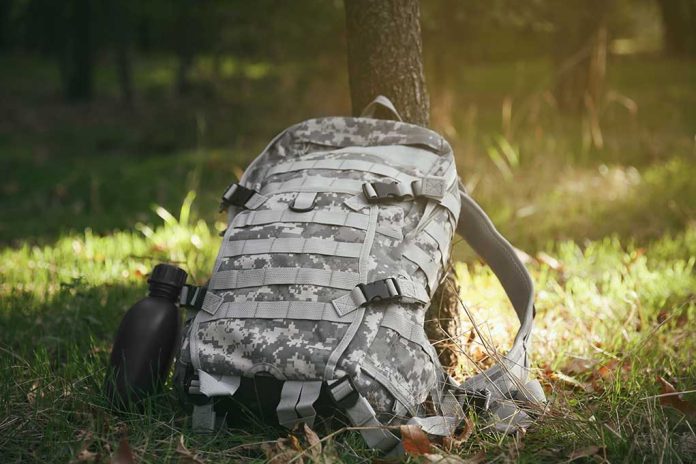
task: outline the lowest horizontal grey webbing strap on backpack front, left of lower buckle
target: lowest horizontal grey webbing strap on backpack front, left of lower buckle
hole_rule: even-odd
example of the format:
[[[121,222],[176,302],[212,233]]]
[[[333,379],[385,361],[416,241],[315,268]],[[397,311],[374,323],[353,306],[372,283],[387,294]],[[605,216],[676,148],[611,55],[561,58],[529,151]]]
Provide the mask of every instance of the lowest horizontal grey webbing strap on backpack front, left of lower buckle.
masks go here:
[[[353,321],[350,314],[338,314],[331,303],[317,301],[227,301],[210,316],[216,319],[304,319],[342,323]]]

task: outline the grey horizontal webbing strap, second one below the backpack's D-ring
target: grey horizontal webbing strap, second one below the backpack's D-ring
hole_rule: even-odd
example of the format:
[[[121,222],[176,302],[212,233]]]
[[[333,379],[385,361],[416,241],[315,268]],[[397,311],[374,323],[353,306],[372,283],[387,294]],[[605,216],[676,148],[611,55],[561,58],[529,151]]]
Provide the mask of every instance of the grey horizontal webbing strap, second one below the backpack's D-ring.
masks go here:
[[[357,258],[362,243],[336,242],[321,238],[268,238],[257,240],[224,241],[222,256],[229,258],[241,255],[267,253],[305,253],[327,256]]]

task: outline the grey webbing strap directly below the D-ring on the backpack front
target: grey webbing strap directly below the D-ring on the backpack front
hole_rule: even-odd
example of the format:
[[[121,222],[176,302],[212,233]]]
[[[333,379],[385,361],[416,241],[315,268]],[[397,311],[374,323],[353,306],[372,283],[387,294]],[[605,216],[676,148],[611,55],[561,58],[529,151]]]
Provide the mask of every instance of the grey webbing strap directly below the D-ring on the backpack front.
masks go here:
[[[309,211],[306,213],[297,213],[291,210],[243,211],[234,217],[230,223],[230,226],[247,227],[273,224],[276,222],[305,222],[367,230],[369,218],[369,215],[361,213],[344,213],[333,211]],[[389,226],[377,227],[377,232],[397,240],[404,238],[400,229],[395,229]]]

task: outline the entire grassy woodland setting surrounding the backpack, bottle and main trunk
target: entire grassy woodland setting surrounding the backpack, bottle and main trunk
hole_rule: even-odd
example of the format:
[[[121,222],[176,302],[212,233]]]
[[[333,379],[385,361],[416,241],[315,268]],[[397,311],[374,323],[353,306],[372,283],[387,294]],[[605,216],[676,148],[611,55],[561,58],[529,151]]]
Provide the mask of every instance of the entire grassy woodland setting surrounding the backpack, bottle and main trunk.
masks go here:
[[[527,253],[550,398],[525,437],[477,422],[432,454],[696,460],[695,20],[693,0],[422,3],[432,126]],[[0,2],[2,462],[106,461],[124,440],[143,462],[370,460],[351,433],[322,454],[262,426],[200,437],[170,394],[144,416],[99,395],[152,265],[204,282],[224,187],[284,127],[350,111],[343,22],[320,0]],[[504,349],[501,290],[455,257]],[[490,353],[461,325],[463,377]]]

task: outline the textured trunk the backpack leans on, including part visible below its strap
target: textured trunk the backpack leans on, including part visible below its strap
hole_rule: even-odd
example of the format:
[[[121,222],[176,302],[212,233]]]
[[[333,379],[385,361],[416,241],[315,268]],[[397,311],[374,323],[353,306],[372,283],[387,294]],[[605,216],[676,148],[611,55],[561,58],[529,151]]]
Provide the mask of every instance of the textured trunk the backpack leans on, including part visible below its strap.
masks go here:
[[[385,95],[404,121],[427,126],[430,102],[423,73],[418,0],[345,0],[353,114]],[[426,314],[431,341],[452,340],[459,327],[457,282],[447,279]],[[458,362],[456,343],[436,345],[443,366]]]

